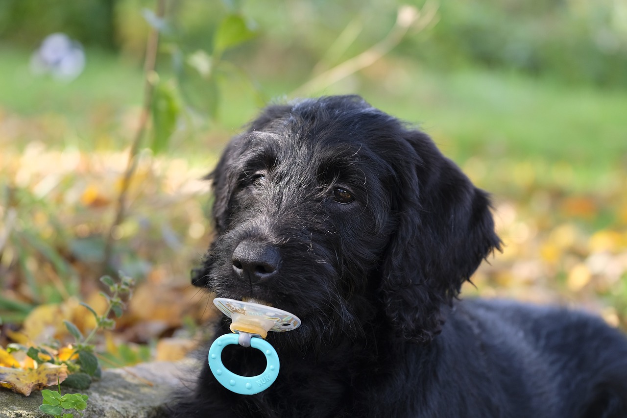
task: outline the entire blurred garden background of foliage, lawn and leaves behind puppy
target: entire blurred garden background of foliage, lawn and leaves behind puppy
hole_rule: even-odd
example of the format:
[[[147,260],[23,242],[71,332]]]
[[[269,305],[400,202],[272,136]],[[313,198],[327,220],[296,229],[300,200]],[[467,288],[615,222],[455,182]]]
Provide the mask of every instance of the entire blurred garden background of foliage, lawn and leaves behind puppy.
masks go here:
[[[466,296],[627,328],[624,1],[2,0],[0,343],[87,326],[78,301],[123,271],[100,349],[176,358],[212,312],[202,177],[264,104],[349,93],[492,193],[505,247]]]

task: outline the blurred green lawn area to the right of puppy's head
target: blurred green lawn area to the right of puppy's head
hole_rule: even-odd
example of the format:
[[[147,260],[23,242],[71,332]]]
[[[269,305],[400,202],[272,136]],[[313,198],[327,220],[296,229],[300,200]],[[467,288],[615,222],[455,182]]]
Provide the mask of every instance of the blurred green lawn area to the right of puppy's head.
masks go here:
[[[465,160],[545,159],[599,170],[627,155],[627,92],[593,90],[513,74],[413,73],[400,100],[375,104],[431,132]]]

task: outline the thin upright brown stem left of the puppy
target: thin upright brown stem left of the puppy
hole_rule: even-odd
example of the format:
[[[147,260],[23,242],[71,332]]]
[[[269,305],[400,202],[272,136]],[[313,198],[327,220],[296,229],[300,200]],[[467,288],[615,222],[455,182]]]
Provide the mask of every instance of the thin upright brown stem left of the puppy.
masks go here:
[[[158,0],[157,1],[157,18],[163,18],[166,13],[166,0]],[[150,31],[150,35],[148,36],[148,40],[146,43],[146,56],[144,59],[144,74],[145,74],[145,83],[144,83],[144,102],[142,105],[142,110],[139,115],[139,126],[137,126],[137,131],[135,131],[135,136],[133,138],[133,142],[130,146],[129,151],[129,159],[127,161],[126,171],[124,172],[124,178],[122,178],[122,186],[120,188],[120,195],[118,196],[116,210],[115,210],[115,219],[109,229],[107,240],[105,242],[105,251],[104,251],[104,259],[102,264],[102,274],[107,273],[109,270],[109,264],[111,261],[111,255],[113,252],[113,235],[115,233],[115,229],[119,227],[119,225],[124,221],[125,217],[125,208],[127,197],[129,194],[129,185],[130,180],[135,174],[135,169],[137,168],[137,160],[139,153],[139,145],[142,141],[142,137],[144,137],[144,132],[146,130],[146,126],[148,124],[150,118],[150,104],[152,103],[152,94],[154,92],[154,84],[155,84],[155,67],[157,63],[157,52],[159,50],[159,29],[152,28]]]

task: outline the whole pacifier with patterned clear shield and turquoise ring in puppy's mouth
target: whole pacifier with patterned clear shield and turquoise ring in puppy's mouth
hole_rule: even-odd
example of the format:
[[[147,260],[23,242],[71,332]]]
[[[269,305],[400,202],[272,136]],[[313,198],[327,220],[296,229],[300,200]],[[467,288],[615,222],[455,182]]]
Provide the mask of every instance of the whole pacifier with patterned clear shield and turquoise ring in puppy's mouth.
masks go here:
[[[213,304],[233,320],[231,331],[216,338],[209,347],[209,368],[218,382],[236,394],[253,395],[268,389],[277,379],[279,361],[277,351],[265,341],[268,331],[292,331],[300,326],[294,314],[263,304],[216,297]],[[260,375],[236,375],[224,367],[222,350],[230,344],[239,344],[260,350],[266,357],[266,368]]]

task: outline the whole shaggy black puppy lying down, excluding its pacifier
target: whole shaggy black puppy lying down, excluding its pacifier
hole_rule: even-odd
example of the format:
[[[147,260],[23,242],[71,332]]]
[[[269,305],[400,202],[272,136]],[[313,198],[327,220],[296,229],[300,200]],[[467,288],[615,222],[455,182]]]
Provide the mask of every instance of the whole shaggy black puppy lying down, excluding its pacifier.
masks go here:
[[[619,331],[456,299],[500,240],[487,194],[423,132],[356,96],[270,106],[211,179],[216,237],[194,284],[302,326],[268,335],[281,360],[269,389],[234,394],[205,367],[177,416],[627,417]],[[234,372],[265,367],[229,347]]]

